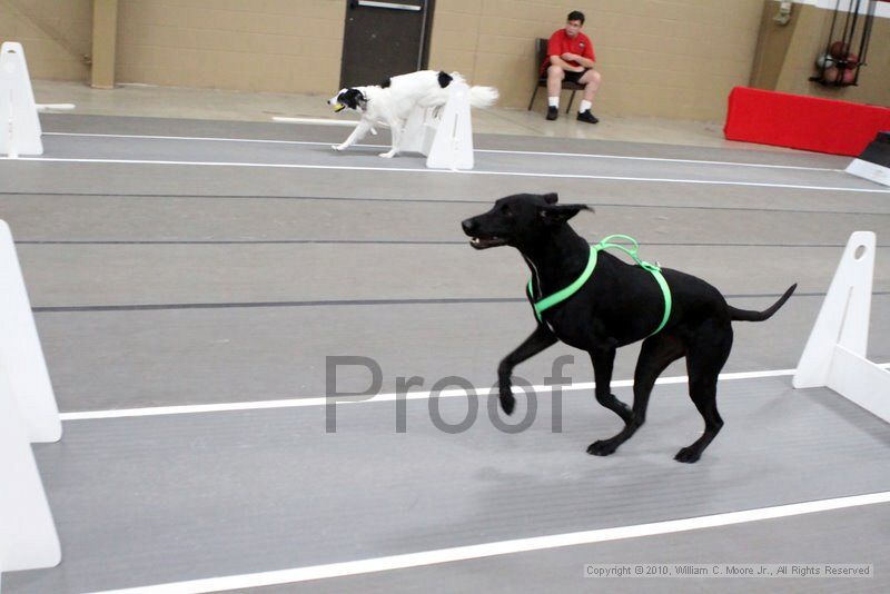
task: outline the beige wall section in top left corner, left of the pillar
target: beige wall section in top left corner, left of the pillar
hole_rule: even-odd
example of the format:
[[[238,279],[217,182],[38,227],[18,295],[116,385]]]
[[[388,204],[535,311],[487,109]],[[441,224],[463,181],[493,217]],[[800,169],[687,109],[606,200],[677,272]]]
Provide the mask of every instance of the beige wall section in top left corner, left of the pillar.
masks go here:
[[[18,41],[32,78],[86,80],[92,0],[0,0],[0,42]]]

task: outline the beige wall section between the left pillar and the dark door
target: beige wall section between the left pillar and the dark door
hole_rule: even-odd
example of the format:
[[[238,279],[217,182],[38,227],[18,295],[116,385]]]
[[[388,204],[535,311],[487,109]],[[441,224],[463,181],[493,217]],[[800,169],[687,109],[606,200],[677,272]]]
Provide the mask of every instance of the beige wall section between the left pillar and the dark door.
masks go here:
[[[337,89],[344,0],[121,0],[119,82]]]

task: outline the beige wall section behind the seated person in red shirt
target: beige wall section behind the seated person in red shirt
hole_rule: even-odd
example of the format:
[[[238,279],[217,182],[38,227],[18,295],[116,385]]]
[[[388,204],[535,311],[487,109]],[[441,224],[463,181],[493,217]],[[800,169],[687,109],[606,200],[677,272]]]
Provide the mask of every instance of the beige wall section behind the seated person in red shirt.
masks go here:
[[[577,9],[603,75],[596,113],[721,119],[730,89],[748,83],[762,8],[762,0],[437,0],[431,67],[461,70],[497,87],[501,105],[524,107],[532,39],[550,37]]]

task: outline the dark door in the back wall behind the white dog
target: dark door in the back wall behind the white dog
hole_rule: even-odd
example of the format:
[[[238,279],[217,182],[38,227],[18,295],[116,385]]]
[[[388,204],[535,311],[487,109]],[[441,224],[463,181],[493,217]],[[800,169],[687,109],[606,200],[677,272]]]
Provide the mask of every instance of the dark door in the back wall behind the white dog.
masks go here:
[[[340,87],[423,70],[434,0],[347,0]]]

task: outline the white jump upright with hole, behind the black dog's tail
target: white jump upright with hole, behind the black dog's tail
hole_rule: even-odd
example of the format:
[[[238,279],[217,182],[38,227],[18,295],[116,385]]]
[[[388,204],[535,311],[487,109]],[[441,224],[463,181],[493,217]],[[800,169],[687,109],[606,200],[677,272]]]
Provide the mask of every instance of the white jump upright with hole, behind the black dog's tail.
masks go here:
[[[795,388],[825,386],[890,423],[890,372],[866,358],[876,238],[856,231],[807,340]]]

